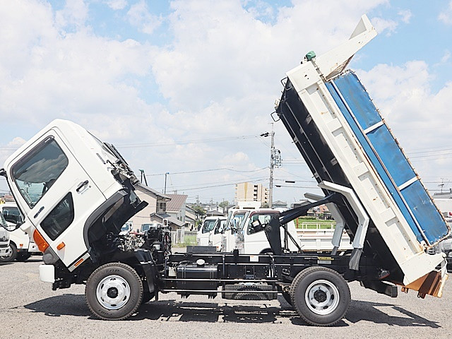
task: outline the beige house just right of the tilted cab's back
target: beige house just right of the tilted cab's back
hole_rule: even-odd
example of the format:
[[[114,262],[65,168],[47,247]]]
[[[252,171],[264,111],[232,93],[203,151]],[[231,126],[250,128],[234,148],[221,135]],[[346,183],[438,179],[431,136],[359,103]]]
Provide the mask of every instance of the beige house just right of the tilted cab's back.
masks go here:
[[[142,201],[146,201],[148,206],[130,218],[129,222],[132,222],[133,230],[141,228],[142,224],[152,222],[150,215],[155,213],[165,213],[167,201],[169,201],[169,196],[161,194],[158,191],[155,191],[155,189],[145,186],[145,184],[138,184],[135,194]]]

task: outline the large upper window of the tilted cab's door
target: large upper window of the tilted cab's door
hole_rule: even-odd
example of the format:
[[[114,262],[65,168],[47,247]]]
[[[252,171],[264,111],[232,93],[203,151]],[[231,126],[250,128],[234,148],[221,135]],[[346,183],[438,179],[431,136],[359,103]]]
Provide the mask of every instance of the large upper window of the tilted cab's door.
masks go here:
[[[20,194],[33,208],[69,164],[53,137],[46,138],[11,168]]]

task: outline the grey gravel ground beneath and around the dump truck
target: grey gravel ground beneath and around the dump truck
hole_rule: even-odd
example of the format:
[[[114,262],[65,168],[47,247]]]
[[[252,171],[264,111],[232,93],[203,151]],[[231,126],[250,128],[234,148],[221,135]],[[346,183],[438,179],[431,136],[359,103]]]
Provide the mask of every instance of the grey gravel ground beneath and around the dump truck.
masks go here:
[[[100,321],[90,316],[84,286],[52,291],[38,278],[39,257],[25,263],[0,263],[3,287],[1,338],[449,338],[452,283],[444,297],[400,293],[378,295],[350,283],[352,303],[334,328],[304,323],[284,301],[232,301],[176,293],[144,304],[127,321]]]

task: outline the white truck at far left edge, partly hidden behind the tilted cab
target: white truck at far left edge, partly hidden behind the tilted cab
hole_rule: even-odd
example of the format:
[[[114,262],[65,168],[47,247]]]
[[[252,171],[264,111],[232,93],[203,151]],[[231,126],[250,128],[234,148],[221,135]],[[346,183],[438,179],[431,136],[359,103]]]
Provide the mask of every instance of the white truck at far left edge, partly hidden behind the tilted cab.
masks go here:
[[[18,222],[23,222],[23,217],[17,208],[16,203],[1,203],[0,212],[4,215],[8,229],[13,230]],[[9,233],[9,249],[8,254],[0,256],[0,261],[26,261],[32,254],[40,254],[35,242],[30,239],[28,234],[20,228]]]

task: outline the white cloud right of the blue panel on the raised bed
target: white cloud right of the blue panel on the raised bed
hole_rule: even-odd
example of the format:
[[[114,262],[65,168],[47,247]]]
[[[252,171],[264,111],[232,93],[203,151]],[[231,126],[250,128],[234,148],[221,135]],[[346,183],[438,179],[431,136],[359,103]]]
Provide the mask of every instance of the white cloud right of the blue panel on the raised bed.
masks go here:
[[[379,64],[357,73],[420,177],[448,177],[451,156],[441,149],[448,146],[452,129],[448,108],[452,83],[434,92],[424,61]]]

